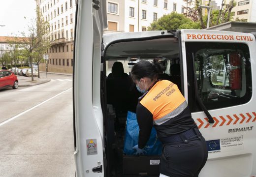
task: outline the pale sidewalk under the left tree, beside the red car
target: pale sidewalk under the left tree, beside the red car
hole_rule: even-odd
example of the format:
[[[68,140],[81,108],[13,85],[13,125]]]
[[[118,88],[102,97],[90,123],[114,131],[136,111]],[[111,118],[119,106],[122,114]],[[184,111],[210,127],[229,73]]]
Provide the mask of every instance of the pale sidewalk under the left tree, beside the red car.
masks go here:
[[[48,78],[38,78],[38,77],[34,77],[34,81],[31,81],[31,77],[17,76],[17,78],[19,81],[19,87],[36,86],[36,85],[44,84],[51,81],[51,79],[48,79]]]

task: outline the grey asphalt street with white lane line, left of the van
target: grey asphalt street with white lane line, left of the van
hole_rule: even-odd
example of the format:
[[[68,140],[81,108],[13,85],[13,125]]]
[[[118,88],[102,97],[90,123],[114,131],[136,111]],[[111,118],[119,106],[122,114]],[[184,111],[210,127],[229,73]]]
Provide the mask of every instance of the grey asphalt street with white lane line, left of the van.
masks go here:
[[[45,84],[0,90],[0,177],[75,175],[72,76],[48,78]]]

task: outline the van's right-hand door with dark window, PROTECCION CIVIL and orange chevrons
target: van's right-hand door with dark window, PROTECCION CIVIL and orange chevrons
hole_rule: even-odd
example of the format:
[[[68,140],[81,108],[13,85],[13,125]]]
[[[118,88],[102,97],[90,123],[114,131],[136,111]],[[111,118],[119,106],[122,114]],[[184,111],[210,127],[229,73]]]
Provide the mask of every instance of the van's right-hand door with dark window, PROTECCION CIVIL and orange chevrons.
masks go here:
[[[185,97],[209,153],[200,176],[255,176],[254,35],[181,30],[181,37]],[[209,123],[200,102],[214,123]]]

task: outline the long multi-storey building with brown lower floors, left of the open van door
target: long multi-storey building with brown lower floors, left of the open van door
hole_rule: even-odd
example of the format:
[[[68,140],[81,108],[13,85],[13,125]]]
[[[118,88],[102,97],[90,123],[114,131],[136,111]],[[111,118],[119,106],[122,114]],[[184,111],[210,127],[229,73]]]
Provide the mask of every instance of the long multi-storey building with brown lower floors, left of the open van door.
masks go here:
[[[36,6],[49,22],[48,71],[72,73],[75,0],[36,0]],[[46,70],[45,63],[39,67]]]

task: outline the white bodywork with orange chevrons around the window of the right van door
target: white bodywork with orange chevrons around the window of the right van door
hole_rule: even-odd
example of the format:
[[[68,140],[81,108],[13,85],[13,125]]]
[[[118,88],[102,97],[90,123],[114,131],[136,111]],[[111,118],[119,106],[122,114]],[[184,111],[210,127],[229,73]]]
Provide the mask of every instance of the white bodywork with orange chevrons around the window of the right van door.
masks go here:
[[[254,35],[247,33],[238,33],[230,31],[216,30],[181,30],[183,59],[187,63],[186,53],[189,49],[184,50],[186,42],[222,42],[222,43],[244,43],[250,51],[251,72],[252,72],[252,96],[251,99],[244,103],[235,106],[223,107],[218,109],[208,110],[214,118],[215,123],[209,124],[206,115],[202,111],[193,112],[192,118],[195,120],[200,132],[203,134],[208,146],[209,156],[205,167],[200,173],[200,177],[249,177],[256,175],[256,113],[255,113],[255,91],[254,83],[255,75],[255,56],[256,40]],[[217,38],[217,35],[221,39]],[[214,38],[214,39],[213,39]],[[190,67],[193,67],[190,65]],[[184,66],[184,69],[187,68]],[[193,73],[187,73],[188,75]],[[185,90],[186,74],[184,73]],[[188,102],[188,93],[186,93]],[[214,150],[216,148],[216,150]]]

